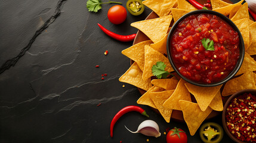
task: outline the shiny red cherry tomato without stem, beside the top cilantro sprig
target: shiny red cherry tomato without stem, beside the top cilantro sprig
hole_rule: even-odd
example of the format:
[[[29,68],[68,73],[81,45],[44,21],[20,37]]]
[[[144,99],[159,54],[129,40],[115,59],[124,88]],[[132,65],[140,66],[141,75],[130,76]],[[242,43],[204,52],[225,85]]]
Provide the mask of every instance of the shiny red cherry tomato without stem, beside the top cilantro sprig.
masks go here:
[[[127,10],[122,5],[115,5],[107,12],[109,21],[113,24],[121,24],[127,18]]]

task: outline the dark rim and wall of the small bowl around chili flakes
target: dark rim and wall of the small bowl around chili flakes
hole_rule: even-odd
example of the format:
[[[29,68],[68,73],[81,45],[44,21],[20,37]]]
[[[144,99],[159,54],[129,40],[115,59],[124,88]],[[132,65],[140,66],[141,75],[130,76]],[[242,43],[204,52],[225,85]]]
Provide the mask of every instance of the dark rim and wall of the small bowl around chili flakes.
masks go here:
[[[222,123],[223,123],[223,128],[225,130],[225,132],[227,133],[227,135],[229,135],[229,137],[235,141],[235,142],[238,142],[238,143],[246,143],[246,142],[242,142],[240,141],[238,138],[236,138],[235,136],[232,135],[232,133],[229,132],[229,129],[227,128],[227,125],[226,125],[226,111],[227,111],[227,107],[229,106],[230,104],[230,101],[232,101],[235,97],[238,97],[239,95],[243,95],[243,94],[252,94],[252,95],[256,95],[256,90],[255,89],[245,89],[245,90],[242,90],[242,91],[239,91],[239,92],[236,92],[235,94],[233,94],[231,97],[229,97],[229,99],[227,100],[226,104],[224,105],[224,108],[223,108],[223,113],[222,113]]]

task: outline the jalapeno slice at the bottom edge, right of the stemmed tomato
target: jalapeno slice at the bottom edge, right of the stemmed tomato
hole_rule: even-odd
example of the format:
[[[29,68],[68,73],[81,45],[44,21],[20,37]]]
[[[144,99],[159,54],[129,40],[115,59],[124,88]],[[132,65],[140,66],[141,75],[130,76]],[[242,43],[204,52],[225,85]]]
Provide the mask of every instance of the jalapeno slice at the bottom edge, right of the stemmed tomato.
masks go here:
[[[217,123],[209,122],[201,126],[199,135],[205,143],[218,143],[223,138],[223,129]]]

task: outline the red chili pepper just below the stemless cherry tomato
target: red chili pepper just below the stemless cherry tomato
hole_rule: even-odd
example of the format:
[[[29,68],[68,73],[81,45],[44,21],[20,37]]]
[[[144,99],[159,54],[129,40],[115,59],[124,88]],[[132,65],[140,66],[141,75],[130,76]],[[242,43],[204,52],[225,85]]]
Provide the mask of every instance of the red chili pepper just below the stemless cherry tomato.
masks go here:
[[[109,35],[110,37],[121,41],[121,42],[129,42],[129,41],[133,41],[136,34],[132,34],[132,35],[118,35],[116,33],[110,32],[109,30],[105,29],[103,26],[101,26],[101,24],[98,23],[98,26],[100,27],[101,30],[103,30],[104,33],[106,33],[106,35]]]

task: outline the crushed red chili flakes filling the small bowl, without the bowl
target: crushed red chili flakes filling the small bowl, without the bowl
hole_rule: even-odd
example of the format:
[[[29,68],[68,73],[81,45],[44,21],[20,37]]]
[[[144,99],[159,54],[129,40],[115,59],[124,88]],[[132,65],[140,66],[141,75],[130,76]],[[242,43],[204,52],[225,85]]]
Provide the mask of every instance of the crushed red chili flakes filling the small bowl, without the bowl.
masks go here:
[[[234,98],[226,112],[227,128],[243,142],[256,142],[256,96],[243,94]]]

